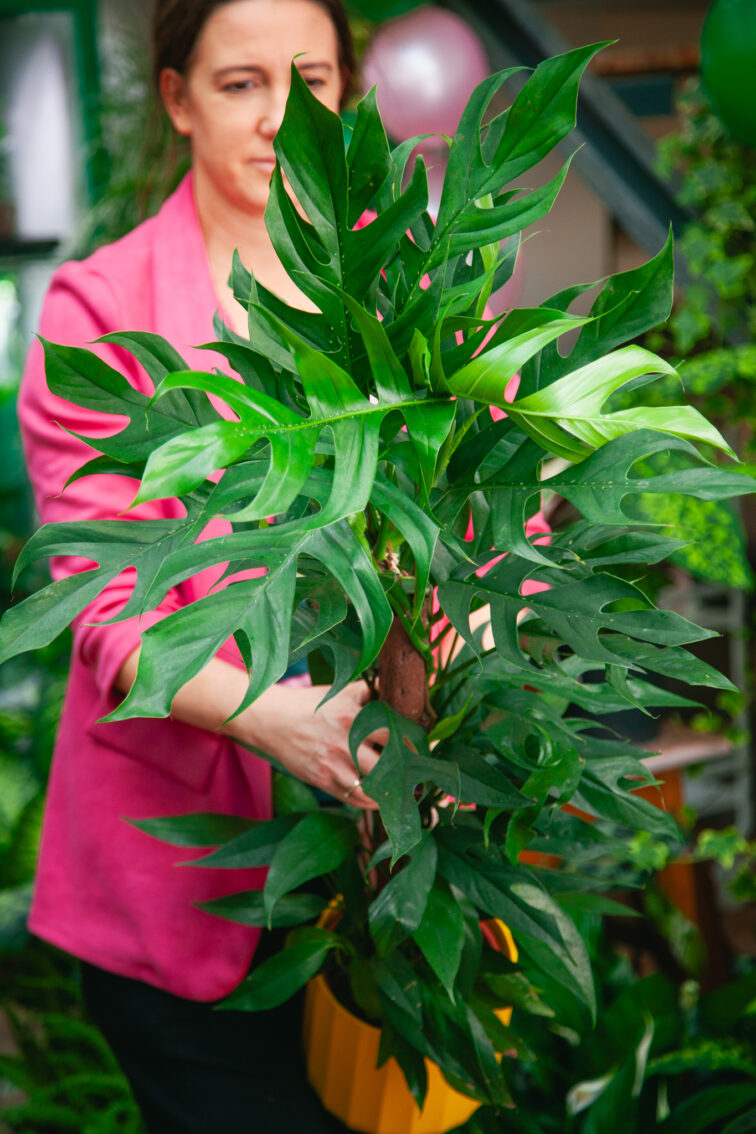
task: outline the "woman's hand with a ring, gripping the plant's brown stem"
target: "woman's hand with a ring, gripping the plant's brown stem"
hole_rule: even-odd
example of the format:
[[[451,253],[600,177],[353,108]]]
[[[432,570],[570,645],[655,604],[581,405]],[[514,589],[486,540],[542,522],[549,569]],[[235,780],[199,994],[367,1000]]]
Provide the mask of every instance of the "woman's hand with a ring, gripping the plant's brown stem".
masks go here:
[[[355,682],[318,709],[326,693],[326,685],[274,685],[229,722],[228,730],[274,756],[297,779],[354,807],[374,811],[377,804],[359,786],[349,751],[349,729],[369,701],[369,689],[365,682]],[[387,739],[387,729],[379,729],[360,744],[360,777],[373,770],[379,758],[375,745]]]

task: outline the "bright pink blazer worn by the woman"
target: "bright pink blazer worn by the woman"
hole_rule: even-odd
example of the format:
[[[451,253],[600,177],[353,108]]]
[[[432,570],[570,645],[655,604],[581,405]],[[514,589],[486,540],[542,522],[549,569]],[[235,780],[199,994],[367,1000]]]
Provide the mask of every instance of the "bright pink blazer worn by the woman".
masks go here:
[[[193,344],[214,338],[216,307],[188,177],[156,217],[56,272],[40,331],[71,346],[110,331],[156,331],[190,366],[211,370],[224,361],[193,349]],[[96,350],[138,389],[151,389],[126,352],[109,346]],[[36,341],[18,413],[43,523],[125,511],[136,486],[125,477],[88,476],[63,491],[68,476],[93,456],[66,430],[104,435],[118,422],[53,396]],[[177,508],[163,500],[128,515],[170,517],[180,515]],[[220,524],[215,530],[222,530]],[[57,560],[53,576],[84,565]],[[77,619],[29,919],[34,933],[85,960],[195,1000],[224,996],[238,984],[260,931],[220,921],[193,903],[260,887],[264,874],[179,866],[199,852],[165,846],[124,818],[194,811],[269,818],[269,765],[223,737],[170,719],[96,721],[116,705],[113,679],[138,644],[141,628],[206,594],[219,574],[205,572],[182,583],[141,624],[88,625],[121,609],[133,585],[127,572]],[[221,653],[240,665],[232,643]]]

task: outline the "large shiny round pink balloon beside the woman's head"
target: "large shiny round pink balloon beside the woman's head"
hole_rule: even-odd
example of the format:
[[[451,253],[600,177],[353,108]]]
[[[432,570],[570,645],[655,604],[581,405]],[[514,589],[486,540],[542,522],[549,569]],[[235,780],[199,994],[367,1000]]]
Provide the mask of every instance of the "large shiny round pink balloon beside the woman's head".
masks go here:
[[[363,88],[377,87],[387,132],[398,141],[453,134],[473,90],[489,74],[469,24],[431,6],[384,24],[363,59]]]

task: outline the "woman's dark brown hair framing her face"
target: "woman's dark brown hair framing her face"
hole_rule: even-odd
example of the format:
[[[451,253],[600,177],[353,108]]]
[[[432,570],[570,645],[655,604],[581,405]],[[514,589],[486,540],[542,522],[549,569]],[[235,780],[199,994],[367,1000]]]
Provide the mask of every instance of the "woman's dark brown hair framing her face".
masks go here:
[[[155,83],[165,67],[185,75],[199,34],[216,8],[233,0],[156,0],[152,20],[152,50]],[[347,14],[340,0],[309,0],[328,14],[339,43],[339,65],[345,77],[342,104],[347,101],[355,74],[355,45]]]

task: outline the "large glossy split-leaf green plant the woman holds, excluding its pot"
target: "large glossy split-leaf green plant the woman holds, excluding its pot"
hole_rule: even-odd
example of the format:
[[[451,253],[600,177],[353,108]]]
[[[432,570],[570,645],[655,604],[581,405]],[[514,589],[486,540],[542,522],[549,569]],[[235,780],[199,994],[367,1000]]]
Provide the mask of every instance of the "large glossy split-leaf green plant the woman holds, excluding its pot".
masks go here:
[[[88,352],[45,344],[53,390],[87,404],[104,384],[109,409],[130,421],[95,442],[102,456],[77,475],[137,477],[137,500],[178,497],[186,518],[170,532],[150,521],[42,528],[18,570],[63,548],[99,566],[68,579],[65,594],[54,584],[9,610],[2,657],[53,638],[127,566],[137,582],[120,617],[228,562],[227,586],[145,633],[135,685],[110,719],[168,714],[232,634],[250,670],[244,704],[303,658],[333,691],[359,676],[372,683],[376,697],[350,739],[356,751],[388,729],[363,781],[380,823],[360,829],[348,805],[318,806],[281,778],[270,821],[184,815],[141,826],[216,848],[207,868],[270,866],[264,890],[207,906],[246,924],[292,926],[288,947],[228,1005],[269,1007],[328,966],[342,1002],[380,1026],[380,1057],[396,1058],[418,1105],[426,1058],[465,1095],[507,1105],[509,1061],[498,1053],[518,1041],[495,1015],[503,1004],[554,1015],[562,1027],[591,1021],[594,982],[571,913],[613,908],[601,891],[625,878],[632,831],[676,838],[671,818],[634,795],[653,782],[643,753],[588,731],[567,706],[680,703],[646,671],[729,684],[685,649],[707,633],[655,609],[634,582],[679,544],[634,525],[622,505],[638,493],[723,499],[753,482],[697,450],[704,442],[733,456],[691,407],[603,412],[621,387],[671,373],[648,350],[622,346],[669,313],[670,244],[605,281],[587,316],[569,307],[589,285],[503,319],[485,314],[520,230],[549,211],[569,162],[541,188],[511,184],[569,134],[596,50],[546,60],[491,117],[512,71],[481,84],[450,143],[435,221],[423,162],[406,179],[413,142],[390,150],[374,95],[359,104],[345,152],[340,119],[292,70],[266,218],[281,262],[320,313],[289,307],[237,261],[254,346],[220,328],[213,349],[240,380],[188,372],[154,336],[109,337],[137,354],[153,398]],[[356,228],[368,208],[374,219]],[[568,331],[579,335],[560,354]],[[210,393],[236,420],[221,417]],[[507,416],[493,420],[490,406]],[[634,475],[669,450],[673,472]],[[544,479],[552,456],[562,471]],[[544,490],[581,518],[537,542],[525,524]],[[229,534],[195,542],[218,516]],[[266,573],[240,574],[253,566]],[[476,611],[491,642],[483,626],[470,628]],[[568,801],[586,818],[562,810]],[[521,864],[526,846],[558,865]],[[335,917],[314,924],[330,898]],[[517,964],[482,930],[492,917],[513,934]]]

